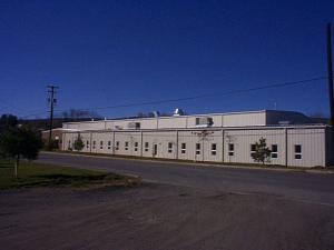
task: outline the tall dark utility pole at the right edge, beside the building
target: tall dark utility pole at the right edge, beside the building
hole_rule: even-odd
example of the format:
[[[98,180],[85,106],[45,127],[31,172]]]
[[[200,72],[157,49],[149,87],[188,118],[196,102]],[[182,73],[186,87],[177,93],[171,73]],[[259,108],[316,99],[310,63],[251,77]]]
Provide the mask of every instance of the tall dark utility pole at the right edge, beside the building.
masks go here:
[[[334,150],[334,100],[333,100],[333,66],[332,66],[331,23],[327,23],[327,66],[328,66],[331,124],[332,124],[332,147]]]

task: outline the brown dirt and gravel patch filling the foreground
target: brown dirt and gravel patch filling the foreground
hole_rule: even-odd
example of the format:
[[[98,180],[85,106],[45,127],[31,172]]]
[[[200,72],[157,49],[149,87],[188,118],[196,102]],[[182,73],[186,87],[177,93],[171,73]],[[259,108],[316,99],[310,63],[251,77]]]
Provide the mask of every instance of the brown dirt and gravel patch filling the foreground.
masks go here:
[[[0,191],[2,249],[334,249],[334,208],[143,183]]]

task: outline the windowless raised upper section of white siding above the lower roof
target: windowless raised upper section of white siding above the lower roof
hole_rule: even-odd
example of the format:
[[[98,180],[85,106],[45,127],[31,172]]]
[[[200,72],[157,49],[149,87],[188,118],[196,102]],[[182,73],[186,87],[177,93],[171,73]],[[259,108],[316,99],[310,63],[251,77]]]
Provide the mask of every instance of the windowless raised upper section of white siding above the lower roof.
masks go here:
[[[140,129],[179,129],[195,128],[196,118],[209,117],[213,119],[213,127],[252,127],[277,124],[281,120],[291,120],[293,123],[310,123],[307,117],[298,112],[291,111],[248,111],[233,113],[208,113],[180,117],[158,117],[158,118],[135,118],[121,120],[102,120],[63,123],[65,129],[78,130],[114,130],[116,127],[127,130],[129,122],[139,122]]]

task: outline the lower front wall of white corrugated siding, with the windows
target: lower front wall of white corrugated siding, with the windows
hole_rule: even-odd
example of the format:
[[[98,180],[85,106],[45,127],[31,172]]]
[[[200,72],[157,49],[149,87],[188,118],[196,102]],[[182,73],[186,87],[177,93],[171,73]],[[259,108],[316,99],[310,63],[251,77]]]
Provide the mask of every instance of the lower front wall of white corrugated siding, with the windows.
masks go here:
[[[254,163],[250,146],[261,138],[265,138],[269,149],[273,144],[277,146],[278,157],[272,158],[271,164],[313,167],[326,166],[328,144],[326,150],[325,131],[326,127],[266,127],[224,130],[81,131],[80,136],[85,142],[82,150],[85,152],[244,163]],[[205,137],[200,136],[203,132],[207,132]],[[65,132],[62,149],[73,148],[77,137],[78,132]],[[118,146],[117,142],[119,142]],[[168,143],[171,144],[170,152]],[[183,143],[186,146],[185,150],[183,150]],[[200,144],[199,153],[196,153],[196,143]],[[213,143],[216,144],[216,154],[213,154]],[[229,143],[234,144],[233,156],[229,156]],[[295,159],[294,147],[296,144],[302,146],[301,159]]]

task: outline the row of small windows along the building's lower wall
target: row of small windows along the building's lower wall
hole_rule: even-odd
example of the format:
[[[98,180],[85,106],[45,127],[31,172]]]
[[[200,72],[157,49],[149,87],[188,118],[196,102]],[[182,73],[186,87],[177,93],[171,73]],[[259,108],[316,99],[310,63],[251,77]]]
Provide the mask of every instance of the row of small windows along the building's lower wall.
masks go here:
[[[70,141],[69,141],[70,143]],[[195,153],[196,156],[200,156],[200,143],[196,143],[195,144]],[[89,148],[89,141],[86,141],[86,148]],[[92,141],[92,148],[96,149],[96,141]],[[111,141],[107,142],[107,148],[111,149]],[[100,141],[100,149],[104,149],[104,141]],[[124,144],[124,149],[127,151],[129,149],[129,142],[126,141]],[[148,152],[149,149],[149,143],[145,142],[144,143],[144,151]],[[116,141],[116,147],[115,150],[118,151],[119,150],[119,141]],[[157,149],[155,149],[157,150]],[[184,154],[186,153],[187,147],[186,143],[183,142],[180,146],[180,152]],[[138,142],[134,143],[134,151],[138,152]],[[255,144],[250,144],[250,157],[253,157],[253,153],[255,153],[256,151],[256,147]],[[278,146],[277,144],[272,144],[271,146],[271,151],[272,151],[272,158],[273,159],[277,159],[278,158]],[[210,148],[210,152],[212,156],[217,156],[217,144],[216,143],[212,143],[212,148]],[[173,142],[168,142],[168,153],[173,153]],[[233,143],[228,143],[228,156],[229,157],[234,157],[235,154],[235,147]],[[295,159],[302,159],[302,146],[301,144],[295,144],[294,146],[294,158]]]

